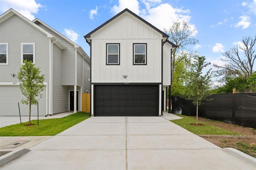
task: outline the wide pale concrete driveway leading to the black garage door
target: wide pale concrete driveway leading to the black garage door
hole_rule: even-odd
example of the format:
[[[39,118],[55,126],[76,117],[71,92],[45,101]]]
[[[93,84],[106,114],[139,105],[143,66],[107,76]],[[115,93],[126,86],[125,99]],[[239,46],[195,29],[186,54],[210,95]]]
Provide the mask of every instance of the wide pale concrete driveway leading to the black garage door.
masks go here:
[[[91,117],[3,169],[254,169],[162,117]]]

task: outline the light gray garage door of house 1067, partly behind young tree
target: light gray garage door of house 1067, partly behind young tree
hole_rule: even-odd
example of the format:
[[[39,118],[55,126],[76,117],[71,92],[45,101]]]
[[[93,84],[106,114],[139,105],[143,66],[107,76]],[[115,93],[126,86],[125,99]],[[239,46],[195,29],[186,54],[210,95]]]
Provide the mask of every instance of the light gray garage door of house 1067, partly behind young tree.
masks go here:
[[[46,112],[46,86],[41,92],[42,98],[39,98],[39,116],[45,116]],[[0,86],[0,116],[19,116],[18,102],[20,106],[20,115],[29,115],[29,105],[22,104],[21,100],[26,97],[21,93],[19,86]],[[31,115],[37,116],[37,105],[31,105]]]

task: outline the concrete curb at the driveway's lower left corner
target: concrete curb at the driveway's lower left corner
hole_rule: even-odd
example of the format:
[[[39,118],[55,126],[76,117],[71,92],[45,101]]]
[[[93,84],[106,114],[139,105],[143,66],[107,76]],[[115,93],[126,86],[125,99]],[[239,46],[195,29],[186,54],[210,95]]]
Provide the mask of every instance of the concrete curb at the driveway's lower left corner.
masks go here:
[[[0,166],[3,166],[4,164],[16,159],[17,157],[27,153],[28,151],[30,151],[29,149],[26,148],[19,148],[16,149],[12,152],[9,152],[3,156],[0,157]]]

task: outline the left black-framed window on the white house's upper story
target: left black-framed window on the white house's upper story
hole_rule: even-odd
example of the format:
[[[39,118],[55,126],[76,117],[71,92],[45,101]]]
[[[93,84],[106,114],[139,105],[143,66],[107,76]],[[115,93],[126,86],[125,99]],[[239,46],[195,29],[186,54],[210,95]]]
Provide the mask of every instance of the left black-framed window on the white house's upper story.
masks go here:
[[[106,65],[120,65],[120,43],[106,43]]]

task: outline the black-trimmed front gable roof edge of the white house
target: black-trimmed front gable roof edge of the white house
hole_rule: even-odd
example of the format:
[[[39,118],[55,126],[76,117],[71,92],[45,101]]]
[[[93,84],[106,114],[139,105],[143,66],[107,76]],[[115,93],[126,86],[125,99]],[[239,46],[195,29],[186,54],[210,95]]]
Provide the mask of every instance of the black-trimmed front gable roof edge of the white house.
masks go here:
[[[91,34],[93,34],[94,32],[98,31],[99,29],[101,29],[102,27],[104,27],[105,25],[107,25],[108,23],[110,23],[111,21],[113,21],[114,19],[116,19],[117,17],[119,17],[120,15],[122,15],[123,13],[128,12],[131,15],[133,15],[134,17],[136,17],[137,19],[141,20],[142,22],[144,22],[146,25],[150,26],[151,28],[153,28],[154,30],[156,30],[157,32],[159,32],[160,34],[163,35],[163,38],[168,38],[169,36],[164,33],[163,31],[159,30],[158,28],[156,28],[155,26],[153,26],[151,23],[147,22],[145,19],[141,18],[140,16],[138,16],[137,14],[133,13],[132,11],[130,11],[129,9],[125,8],[124,10],[122,10],[120,13],[116,14],[114,17],[112,17],[111,19],[109,19],[108,21],[104,22],[102,25],[100,25],[99,27],[97,27],[96,29],[92,30],[91,32],[89,32],[88,34],[84,35],[83,37],[86,38],[91,38]]]

